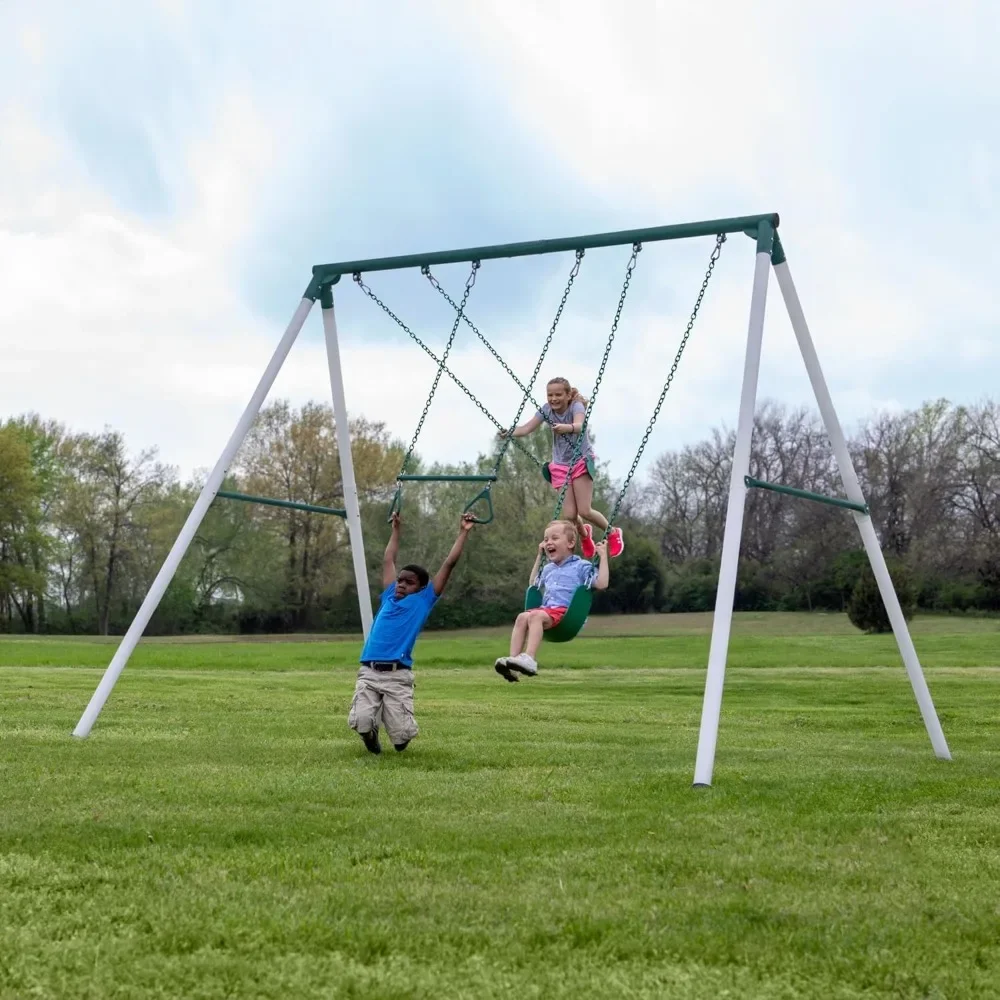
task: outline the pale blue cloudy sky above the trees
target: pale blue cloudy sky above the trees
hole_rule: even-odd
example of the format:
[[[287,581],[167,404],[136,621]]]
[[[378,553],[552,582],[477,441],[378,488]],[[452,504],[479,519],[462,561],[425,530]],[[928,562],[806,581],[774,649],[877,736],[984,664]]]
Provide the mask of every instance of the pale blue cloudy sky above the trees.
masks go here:
[[[998,47],[995,0],[3,0],[0,418],[111,427],[187,477],[313,264],[772,211],[848,431],[996,396]],[[592,414],[614,476],[712,244],[639,255]],[[629,251],[588,252],[542,380],[593,394]],[[468,313],[522,378],[571,256],[477,276]],[[647,460],[735,426],[753,259],[730,237]],[[464,265],[435,274],[460,297]],[[366,280],[440,353],[454,313],[419,271]],[[350,280],[335,300],[351,415],[408,443],[434,363]],[[467,327],[450,358],[509,423],[520,393]],[[318,308],[269,398],[329,401]],[[813,405],[773,277],[759,399]],[[491,440],[443,379],[418,452]]]

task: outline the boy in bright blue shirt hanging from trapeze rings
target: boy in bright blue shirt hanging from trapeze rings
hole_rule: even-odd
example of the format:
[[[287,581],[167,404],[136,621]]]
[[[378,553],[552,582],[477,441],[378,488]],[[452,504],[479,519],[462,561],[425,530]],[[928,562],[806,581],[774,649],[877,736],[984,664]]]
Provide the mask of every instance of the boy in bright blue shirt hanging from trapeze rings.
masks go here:
[[[423,566],[410,564],[396,572],[399,554],[399,512],[392,515],[392,533],[382,558],[382,599],[361,650],[361,667],[347,724],[370,753],[381,753],[379,722],[397,751],[402,752],[419,729],[413,717],[413,644],[455,568],[475,521],[462,516],[451,552],[430,579]]]

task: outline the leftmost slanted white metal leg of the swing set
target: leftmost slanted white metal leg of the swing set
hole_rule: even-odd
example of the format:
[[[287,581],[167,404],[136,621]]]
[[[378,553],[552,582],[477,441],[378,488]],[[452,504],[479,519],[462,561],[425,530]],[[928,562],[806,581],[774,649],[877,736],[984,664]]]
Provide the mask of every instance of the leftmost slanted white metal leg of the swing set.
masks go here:
[[[88,735],[97,721],[97,717],[101,714],[101,709],[108,700],[115,682],[125,669],[125,665],[132,655],[132,650],[135,649],[136,644],[142,637],[142,633],[149,624],[149,619],[153,616],[156,606],[160,603],[164,591],[173,579],[174,573],[177,572],[177,567],[181,559],[184,558],[184,553],[187,552],[188,546],[191,544],[191,540],[198,530],[198,526],[201,524],[206,511],[215,499],[215,494],[222,485],[222,480],[226,477],[229,464],[243,443],[250,425],[257,416],[261,404],[264,402],[271,385],[281,370],[281,366],[288,356],[292,344],[295,343],[295,338],[298,336],[299,330],[302,329],[302,324],[305,323],[311,308],[312,299],[304,298],[299,304],[298,309],[295,310],[295,315],[288,324],[285,334],[281,338],[281,342],[278,344],[270,362],[268,362],[267,369],[261,376],[260,382],[257,383],[257,388],[254,390],[253,396],[250,397],[250,402],[247,403],[246,409],[243,411],[243,415],[236,425],[236,429],[226,443],[226,447],[219,456],[218,462],[215,463],[215,468],[209,473],[201,494],[195,501],[194,507],[191,508],[191,513],[188,514],[187,520],[184,522],[184,527],[181,528],[177,540],[174,542],[173,547],[167,554],[167,558],[160,567],[160,572],[156,574],[156,579],[153,581],[152,587],[149,588],[149,593],[146,594],[142,606],[139,608],[135,618],[132,620],[132,624],[119,643],[111,663],[108,664],[107,670],[104,671],[104,676],[101,678],[97,690],[92,695],[90,703],[80,717],[80,721],[76,724],[76,729],[73,730],[74,736],[82,737]]]

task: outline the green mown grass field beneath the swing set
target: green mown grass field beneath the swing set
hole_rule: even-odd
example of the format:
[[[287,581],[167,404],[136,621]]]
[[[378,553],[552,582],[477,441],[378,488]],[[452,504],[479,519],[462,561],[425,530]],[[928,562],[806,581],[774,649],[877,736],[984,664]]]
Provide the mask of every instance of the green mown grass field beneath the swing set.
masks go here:
[[[358,644],[0,639],[0,997],[1000,995],[1000,622],[592,620],[542,673],[425,633],[421,735],[346,726]],[[549,655],[550,654],[550,655]]]

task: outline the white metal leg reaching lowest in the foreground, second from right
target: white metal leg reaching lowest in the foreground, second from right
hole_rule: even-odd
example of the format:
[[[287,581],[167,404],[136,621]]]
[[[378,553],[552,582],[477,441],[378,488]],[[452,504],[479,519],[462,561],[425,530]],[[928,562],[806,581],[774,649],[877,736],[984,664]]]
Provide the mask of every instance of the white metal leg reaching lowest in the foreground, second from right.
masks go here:
[[[757,401],[757,373],[760,370],[764,307],[767,303],[767,279],[770,270],[770,253],[758,253],[754,265],[753,295],[750,299],[750,324],[746,358],[743,363],[743,390],[740,394],[740,416],[736,428],[733,471],[729,483],[729,506],[726,510],[726,529],[722,538],[722,565],[719,568],[719,587],[715,593],[712,644],[708,653],[705,699],[702,703],[701,728],[698,732],[698,756],[694,767],[695,785],[711,785],[712,770],[715,766],[715,745],[719,735],[719,715],[722,711],[722,686],[726,675],[726,655],[729,651],[733,600],[736,596],[736,571],[739,566],[740,540],[743,535],[743,508],[747,493],[743,477],[750,471],[750,438],[753,433],[754,406]]]

